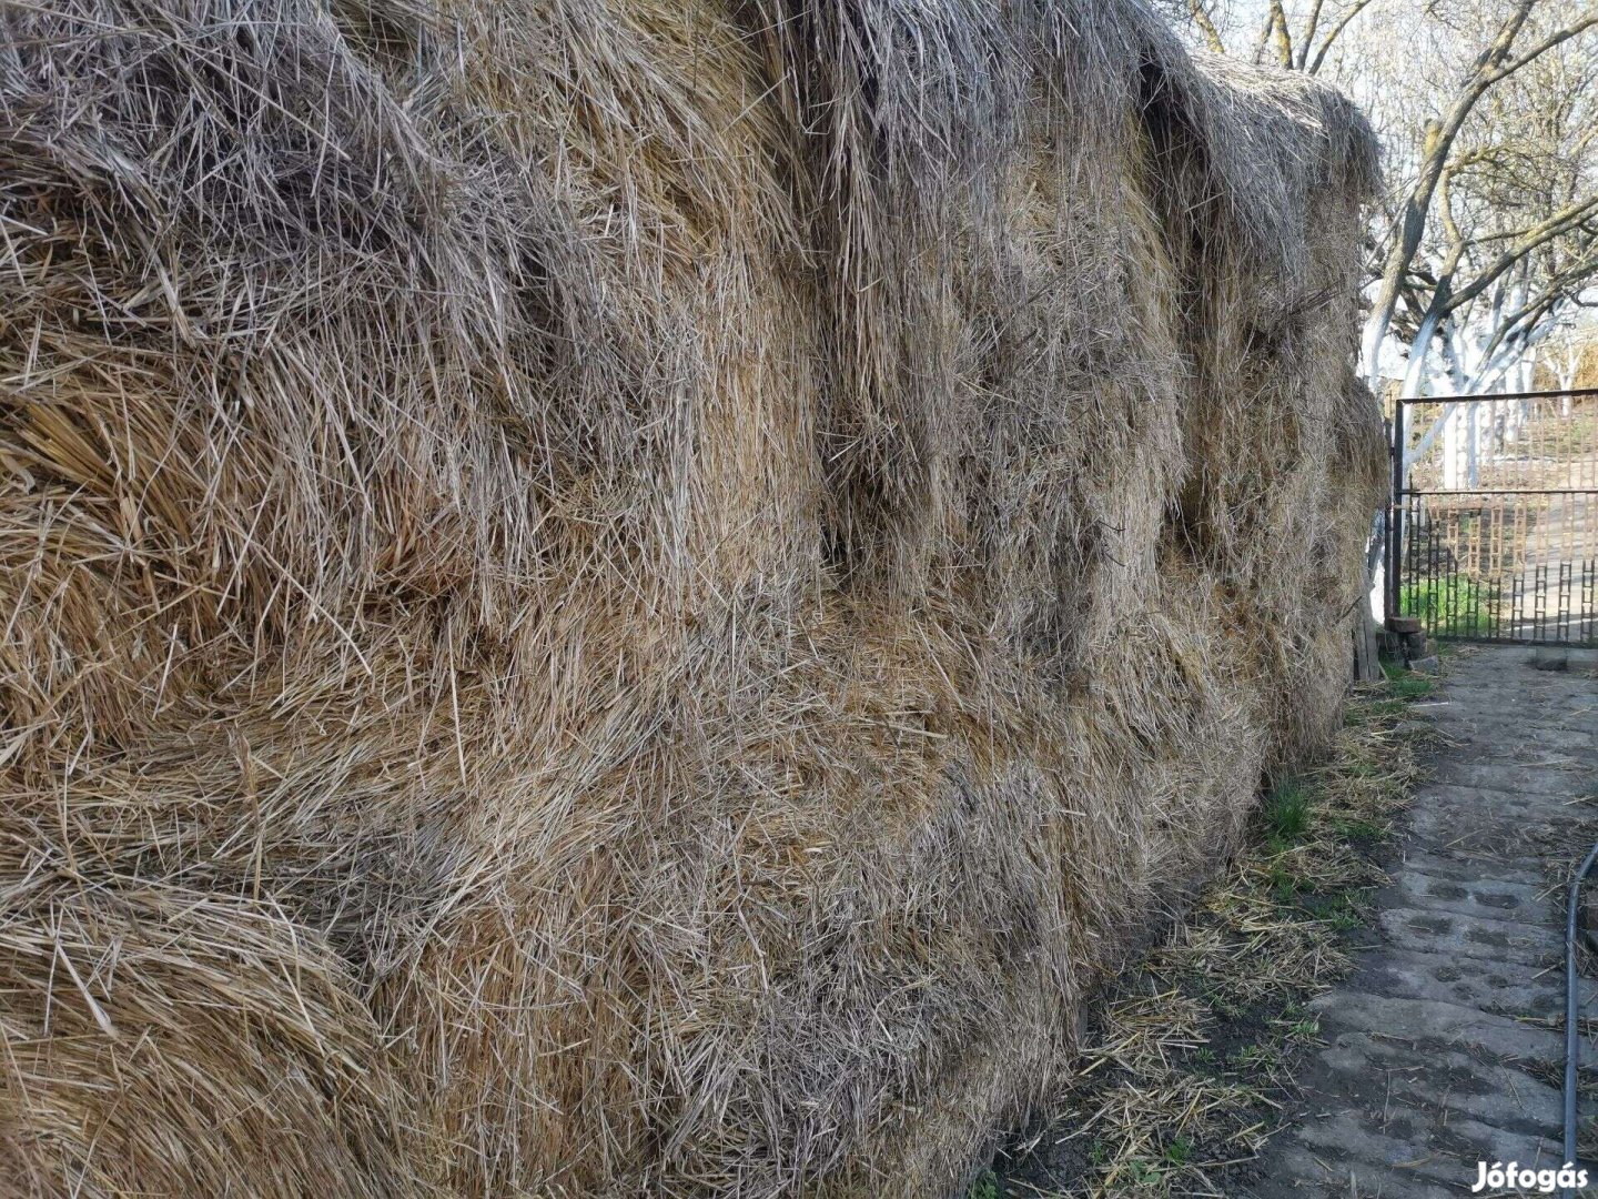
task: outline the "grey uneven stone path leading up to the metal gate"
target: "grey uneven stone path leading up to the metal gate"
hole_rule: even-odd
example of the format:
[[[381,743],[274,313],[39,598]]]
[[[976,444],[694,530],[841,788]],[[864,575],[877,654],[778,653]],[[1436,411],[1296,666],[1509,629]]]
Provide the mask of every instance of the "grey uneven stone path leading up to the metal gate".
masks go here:
[[[1430,1199],[1469,1194],[1478,1161],[1560,1165],[1555,879],[1598,839],[1593,665],[1592,651],[1465,651],[1417,705],[1448,739],[1435,777],[1358,969],[1314,1002],[1326,1046],[1245,1194]],[[1582,998],[1598,1023],[1598,985]],[[1593,1036],[1584,1050],[1598,1066]],[[1595,1113],[1590,1093],[1584,1117]],[[1598,1170],[1593,1181],[1584,1194],[1598,1194]]]

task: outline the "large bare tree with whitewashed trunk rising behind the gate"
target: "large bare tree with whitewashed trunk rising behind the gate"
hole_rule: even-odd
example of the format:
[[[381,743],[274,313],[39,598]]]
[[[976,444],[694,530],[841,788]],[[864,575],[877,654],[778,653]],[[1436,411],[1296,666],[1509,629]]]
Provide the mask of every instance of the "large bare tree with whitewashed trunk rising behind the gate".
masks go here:
[[[1544,3],[1548,16],[1569,14]],[[1459,30],[1461,42],[1489,32],[1489,50],[1475,56],[1443,117],[1427,117],[1419,137],[1400,144],[1398,155],[1416,141],[1419,153],[1397,163],[1361,345],[1373,385],[1382,344],[1397,334],[1408,352],[1406,395],[1429,390],[1433,347],[1456,393],[1491,387],[1529,361],[1598,275],[1598,32],[1577,37],[1598,16],[1550,22],[1529,51],[1507,59],[1528,6],[1517,0],[1509,18]],[[1483,61],[1499,64],[1483,72]]]

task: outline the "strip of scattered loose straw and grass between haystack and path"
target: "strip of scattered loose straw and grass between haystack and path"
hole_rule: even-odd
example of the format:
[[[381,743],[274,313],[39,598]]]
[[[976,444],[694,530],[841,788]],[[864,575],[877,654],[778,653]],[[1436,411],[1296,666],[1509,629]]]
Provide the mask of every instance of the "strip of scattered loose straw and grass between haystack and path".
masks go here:
[[[1082,1066],[992,1191],[1048,1199],[1226,1196],[1282,1130],[1320,1046],[1307,1002],[1354,967],[1379,846],[1441,737],[1430,679],[1365,684],[1323,761],[1278,787],[1235,858],[1093,1006]],[[1558,1084],[1555,1084],[1558,1085]],[[975,1188],[973,1188],[975,1189]]]

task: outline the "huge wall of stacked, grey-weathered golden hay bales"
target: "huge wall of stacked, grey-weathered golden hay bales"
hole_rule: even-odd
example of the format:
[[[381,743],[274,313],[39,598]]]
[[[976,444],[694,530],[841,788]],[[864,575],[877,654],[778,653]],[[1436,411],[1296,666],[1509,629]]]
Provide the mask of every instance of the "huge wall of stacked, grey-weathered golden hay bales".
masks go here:
[[[1135,0],[0,14],[5,1193],[946,1193],[1334,727],[1334,93]]]

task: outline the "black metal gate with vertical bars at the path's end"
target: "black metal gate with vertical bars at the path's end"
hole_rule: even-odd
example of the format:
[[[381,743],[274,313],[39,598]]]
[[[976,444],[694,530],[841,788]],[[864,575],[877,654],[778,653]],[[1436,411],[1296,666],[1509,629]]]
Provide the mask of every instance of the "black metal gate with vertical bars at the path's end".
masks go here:
[[[1598,643],[1598,388],[1400,400],[1392,433],[1387,612]]]

